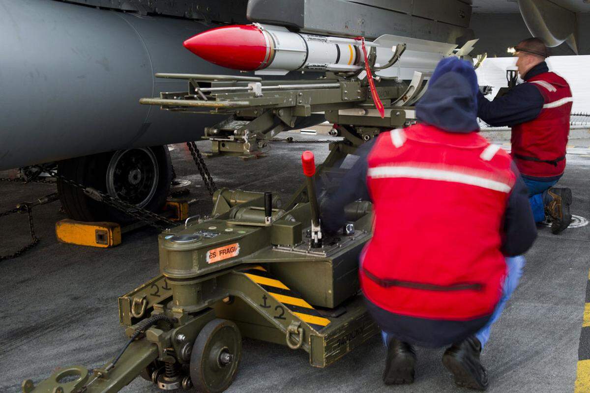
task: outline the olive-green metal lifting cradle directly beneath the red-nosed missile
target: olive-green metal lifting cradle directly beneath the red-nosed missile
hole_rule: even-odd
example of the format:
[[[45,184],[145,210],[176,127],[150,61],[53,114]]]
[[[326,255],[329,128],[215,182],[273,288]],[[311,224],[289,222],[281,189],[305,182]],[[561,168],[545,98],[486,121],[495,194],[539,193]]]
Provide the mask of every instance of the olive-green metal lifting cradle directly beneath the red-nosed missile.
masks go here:
[[[272,81],[232,75],[156,74],[160,78],[188,80],[188,91],[160,93],[139,102],[162,109],[193,113],[230,114],[205,128],[211,154],[242,158],[260,157],[278,133],[325,120],[342,125],[336,131],[353,146],[381,130],[403,126],[414,117],[414,103],[427,85],[425,72],[415,72],[410,84],[383,78],[377,91],[385,107],[381,118],[366,81],[326,73],[316,80]]]

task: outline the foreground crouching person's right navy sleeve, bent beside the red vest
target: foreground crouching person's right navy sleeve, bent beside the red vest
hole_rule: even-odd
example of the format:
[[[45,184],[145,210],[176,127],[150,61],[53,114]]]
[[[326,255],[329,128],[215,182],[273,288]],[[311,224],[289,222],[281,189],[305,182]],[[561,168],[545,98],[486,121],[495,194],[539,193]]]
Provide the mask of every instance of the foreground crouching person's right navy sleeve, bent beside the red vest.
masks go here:
[[[516,174],[516,183],[504,213],[501,250],[505,256],[524,254],[537,238],[537,225],[533,210],[530,208],[529,191],[514,163],[512,163],[512,171]]]

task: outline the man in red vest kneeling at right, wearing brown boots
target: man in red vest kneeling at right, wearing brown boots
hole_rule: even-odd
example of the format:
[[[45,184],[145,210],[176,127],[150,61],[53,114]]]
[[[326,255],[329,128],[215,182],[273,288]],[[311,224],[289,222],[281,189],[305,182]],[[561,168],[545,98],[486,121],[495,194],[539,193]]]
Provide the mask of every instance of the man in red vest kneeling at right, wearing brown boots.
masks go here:
[[[529,189],[535,221],[547,213],[557,234],[572,221],[572,191],[553,187],[565,169],[572,92],[565,79],[549,72],[547,47],[539,38],[525,39],[514,50],[525,83],[493,101],[479,93],[478,116],[490,126],[512,127],[511,154]]]

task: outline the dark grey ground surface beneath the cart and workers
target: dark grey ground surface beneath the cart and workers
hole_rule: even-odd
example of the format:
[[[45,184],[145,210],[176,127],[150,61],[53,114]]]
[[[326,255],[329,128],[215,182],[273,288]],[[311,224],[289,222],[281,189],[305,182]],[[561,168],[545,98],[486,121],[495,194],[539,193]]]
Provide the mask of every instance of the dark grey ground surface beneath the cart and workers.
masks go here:
[[[587,142],[579,144],[590,146]],[[199,147],[207,150],[207,143],[199,142]],[[273,143],[262,160],[224,157],[207,163],[219,187],[278,191],[286,198],[303,180],[303,150],[314,151],[317,161],[327,155],[326,144]],[[191,194],[199,201],[191,213],[207,214],[212,203],[191,156],[182,145],[171,153],[178,176],[193,182]],[[590,217],[589,179],[590,152],[568,155],[560,184],[573,191],[573,214],[586,218]],[[0,183],[0,212],[53,191],[45,184]],[[158,275],[155,230],[136,230],[123,235],[118,247],[95,249],[55,240],[54,223],[64,218],[58,203],[35,208],[34,216],[40,244],[18,259],[0,262],[2,392],[18,392],[25,378],[40,381],[56,366],[103,365],[126,342],[117,297]],[[0,229],[4,235],[0,254],[30,239],[25,216],[1,217]],[[559,236],[540,227],[539,239],[527,253],[520,286],[482,355],[490,374],[489,392],[572,392],[589,252],[590,226],[568,229]],[[440,361],[442,351],[418,349],[416,382],[386,387],[381,381],[385,349],[378,337],[326,369],[312,368],[303,351],[245,339],[240,371],[228,392],[465,391],[451,382]],[[140,378],[123,389],[156,391]]]

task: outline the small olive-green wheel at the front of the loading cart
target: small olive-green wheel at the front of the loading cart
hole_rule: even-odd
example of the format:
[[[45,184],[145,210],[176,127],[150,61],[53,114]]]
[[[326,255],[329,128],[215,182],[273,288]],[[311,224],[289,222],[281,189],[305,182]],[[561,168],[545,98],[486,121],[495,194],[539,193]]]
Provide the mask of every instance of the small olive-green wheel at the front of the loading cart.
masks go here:
[[[234,322],[214,319],[196,337],[191,380],[201,393],[220,393],[234,382],[242,354],[242,335]]]

